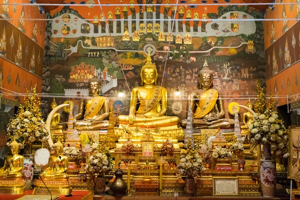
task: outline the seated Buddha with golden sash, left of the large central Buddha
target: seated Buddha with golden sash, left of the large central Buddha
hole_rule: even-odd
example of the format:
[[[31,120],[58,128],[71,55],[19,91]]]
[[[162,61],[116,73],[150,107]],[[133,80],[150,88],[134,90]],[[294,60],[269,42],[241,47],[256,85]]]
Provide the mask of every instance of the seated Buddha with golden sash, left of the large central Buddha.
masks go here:
[[[79,101],[78,113],[74,116],[74,127],[77,130],[99,130],[108,126],[108,100],[99,96],[101,82],[97,77],[88,80],[88,97]]]

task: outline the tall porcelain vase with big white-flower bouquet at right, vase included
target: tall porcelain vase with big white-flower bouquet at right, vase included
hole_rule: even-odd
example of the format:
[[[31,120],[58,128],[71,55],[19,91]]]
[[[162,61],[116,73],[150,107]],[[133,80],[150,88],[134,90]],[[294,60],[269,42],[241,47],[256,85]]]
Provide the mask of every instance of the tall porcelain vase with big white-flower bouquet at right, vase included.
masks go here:
[[[263,156],[260,158],[261,189],[263,196],[273,197],[276,186],[276,162],[271,155],[271,150],[278,157],[288,156],[288,131],[283,121],[278,119],[271,98],[266,106],[265,95],[259,83],[257,83],[257,96],[259,97],[255,103],[257,113],[253,115],[249,125],[248,140],[254,145],[263,145]]]

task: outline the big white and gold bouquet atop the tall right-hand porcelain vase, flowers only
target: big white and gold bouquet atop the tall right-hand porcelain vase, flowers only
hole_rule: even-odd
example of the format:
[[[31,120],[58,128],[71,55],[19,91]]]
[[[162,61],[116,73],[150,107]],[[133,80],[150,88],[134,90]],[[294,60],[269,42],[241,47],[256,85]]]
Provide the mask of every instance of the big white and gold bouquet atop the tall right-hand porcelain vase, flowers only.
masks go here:
[[[255,106],[266,105],[266,99],[262,88],[257,83],[257,96],[259,99]],[[268,106],[259,108],[252,117],[249,124],[248,140],[252,144],[269,144],[276,156],[287,157],[288,153],[288,130],[283,125],[283,121],[278,119],[274,110],[274,101],[270,97]]]

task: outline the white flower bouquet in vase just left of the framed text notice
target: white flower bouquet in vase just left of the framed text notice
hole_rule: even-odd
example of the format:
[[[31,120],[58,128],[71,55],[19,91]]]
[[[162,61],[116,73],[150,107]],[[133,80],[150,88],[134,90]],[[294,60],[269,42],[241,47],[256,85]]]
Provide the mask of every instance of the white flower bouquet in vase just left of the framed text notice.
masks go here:
[[[186,195],[193,196],[196,188],[194,177],[196,177],[203,170],[203,163],[198,149],[192,145],[189,139],[186,145],[186,153],[181,154],[178,170],[181,175],[186,175],[185,186]]]

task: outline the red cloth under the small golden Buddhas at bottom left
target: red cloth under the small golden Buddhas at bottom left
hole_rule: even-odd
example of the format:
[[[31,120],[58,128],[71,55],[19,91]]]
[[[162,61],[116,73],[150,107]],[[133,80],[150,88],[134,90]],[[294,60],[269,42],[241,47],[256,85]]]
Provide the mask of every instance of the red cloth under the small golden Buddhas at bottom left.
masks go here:
[[[10,195],[10,194],[0,194],[0,199],[17,199],[20,198],[26,194],[32,194],[33,190],[27,190],[25,193],[23,194],[18,194],[18,195]],[[73,196],[71,197],[65,197],[64,195],[60,195],[59,200],[80,200],[83,199],[83,196],[87,196],[90,195],[91,191],[89,190],[73,190],[72,194]],[[55,194],[52,194],[52,197],[56,196]],[[49,194],[49,199],[50,199],[50,194]],[[86,197],[85,197],[86,199]]]

